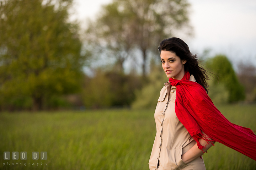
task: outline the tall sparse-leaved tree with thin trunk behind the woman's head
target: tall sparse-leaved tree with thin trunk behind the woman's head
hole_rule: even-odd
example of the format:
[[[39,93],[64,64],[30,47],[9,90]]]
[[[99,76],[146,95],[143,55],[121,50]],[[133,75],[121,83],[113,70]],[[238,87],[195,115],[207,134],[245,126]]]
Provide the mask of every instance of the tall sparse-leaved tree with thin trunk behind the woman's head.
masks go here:
[[[114,0],[103,7],[95,22],[91,21],[87,34],[96,34],[91,37],[97,37],[98,44],[114,51],[119,65],[132,49],[139,49],[145,76],[150,52],[157,53],[160,41],[173,36],[177,29],[189,27],[188,7],[186,0]]]

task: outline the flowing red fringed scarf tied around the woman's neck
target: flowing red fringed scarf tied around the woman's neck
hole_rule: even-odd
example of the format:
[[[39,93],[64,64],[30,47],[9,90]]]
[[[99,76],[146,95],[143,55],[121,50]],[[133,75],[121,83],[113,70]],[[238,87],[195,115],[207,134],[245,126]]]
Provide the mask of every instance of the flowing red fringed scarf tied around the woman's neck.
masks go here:
[[[232,124],[214,106],[205,89],[198,83],[189,81],[190,73],[185,71],[181,80],[170,78],[176,86],[175,112],[180,122],[203,149],[199,139],[217,141],[256,160],[256,136],[250,128]],[[241,113],[243,114],[243,113]],[[207,136],[213,140],[209,140]]]

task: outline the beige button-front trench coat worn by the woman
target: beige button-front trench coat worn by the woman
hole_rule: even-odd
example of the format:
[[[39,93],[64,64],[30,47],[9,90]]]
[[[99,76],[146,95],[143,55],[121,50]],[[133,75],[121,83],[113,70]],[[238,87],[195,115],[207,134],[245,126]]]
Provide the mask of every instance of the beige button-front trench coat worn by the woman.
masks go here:
[[[193,75],[190,81],[196,81]],[[196,141],[178,120],[175,113],[176,87],[166,82],[161,89],[155,110],[156,136],[149,159],[150,170],[205,170],[200,157],[186,164],[181,155],[192,148]]]

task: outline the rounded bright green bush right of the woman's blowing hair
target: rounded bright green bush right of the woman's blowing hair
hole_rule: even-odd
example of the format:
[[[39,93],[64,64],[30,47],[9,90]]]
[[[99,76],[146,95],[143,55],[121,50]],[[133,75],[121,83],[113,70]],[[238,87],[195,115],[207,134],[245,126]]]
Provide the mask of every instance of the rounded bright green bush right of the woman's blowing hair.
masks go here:
[[[225,100],[226,89],[228,91],[228,102],[245,99],[244,87],[239,83],[232,64],[225,55],[217,55],[210,58],[206,62],[206,66],[215,74],[213,75],[213,87],[210,87],[210,89],[214,89],[212,95],[223,95],[222,100]],[[218,83],[220,84],[217,85]],[[218,98],[220,100],[220,97]]]

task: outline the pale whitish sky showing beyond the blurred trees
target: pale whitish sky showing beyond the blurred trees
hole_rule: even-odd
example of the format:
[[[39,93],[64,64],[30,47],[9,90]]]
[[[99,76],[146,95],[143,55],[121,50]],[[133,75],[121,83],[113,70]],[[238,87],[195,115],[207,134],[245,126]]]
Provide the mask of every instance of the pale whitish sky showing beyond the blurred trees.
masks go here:
[[[94,19],[102,4],[112,0],[74,0],[81,21]],[[193,37],[183,39],[192,53],[225,54],[234,66],[241,60],[256,65],[256,0],[188,0]],[[184,35],[183,35],[184,36]],[[236,67],[236,66],[235,66]]]

